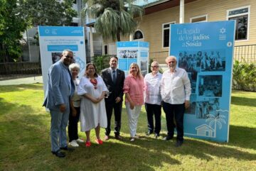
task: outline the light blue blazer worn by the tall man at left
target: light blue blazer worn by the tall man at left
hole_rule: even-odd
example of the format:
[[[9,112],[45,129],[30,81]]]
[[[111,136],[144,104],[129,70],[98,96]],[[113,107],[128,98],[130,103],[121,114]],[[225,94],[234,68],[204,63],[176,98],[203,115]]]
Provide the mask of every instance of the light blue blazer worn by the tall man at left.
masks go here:
[[[43,106],[52,110],[59,110],[60,104],[69,106],[69,99],[73,96],[74,92],[75,84],[68,67],[60,60],[55,62],[48,71],[48,85]]]

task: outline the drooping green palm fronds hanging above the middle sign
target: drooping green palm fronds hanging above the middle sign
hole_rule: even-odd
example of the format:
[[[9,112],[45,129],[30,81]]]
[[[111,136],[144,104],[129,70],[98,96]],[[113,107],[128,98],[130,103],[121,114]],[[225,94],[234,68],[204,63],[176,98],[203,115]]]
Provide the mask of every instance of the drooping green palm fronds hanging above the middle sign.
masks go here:
[[[95,30],[103,39],[121,41],[121,35],[136,30],[144,9],[132,4],[132,0],[85,0],[87,6],[82,14],[95,18]]]

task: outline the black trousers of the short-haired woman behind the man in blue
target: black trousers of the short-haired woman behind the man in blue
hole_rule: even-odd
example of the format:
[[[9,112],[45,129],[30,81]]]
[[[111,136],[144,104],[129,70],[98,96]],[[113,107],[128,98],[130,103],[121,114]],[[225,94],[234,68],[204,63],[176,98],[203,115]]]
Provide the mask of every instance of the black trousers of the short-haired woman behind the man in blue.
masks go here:
[[[75,107],[77,111],[76,116],[72,116],[72,111],[70,109],[70,115],[68,118],[68,138],[69,142],[78,139],[78,121],[80,118],[80,107]]]

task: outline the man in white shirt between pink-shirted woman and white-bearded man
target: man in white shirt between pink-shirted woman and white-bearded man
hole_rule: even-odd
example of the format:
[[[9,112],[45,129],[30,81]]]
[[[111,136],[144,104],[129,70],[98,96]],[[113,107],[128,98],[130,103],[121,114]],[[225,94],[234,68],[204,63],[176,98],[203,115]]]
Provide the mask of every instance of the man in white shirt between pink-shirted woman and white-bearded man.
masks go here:
[[[151,73],[144,77],[145,84],[145,108],[146,116],[148,120],[148,132],[149,136],[154,133],[155,138],[159,137],[161,131],[161,94],[160,94],[160,81],[161,73],[159,72],[159,63],[154,61],[151,63]],[[155,126],[154,119],[155,118]]]

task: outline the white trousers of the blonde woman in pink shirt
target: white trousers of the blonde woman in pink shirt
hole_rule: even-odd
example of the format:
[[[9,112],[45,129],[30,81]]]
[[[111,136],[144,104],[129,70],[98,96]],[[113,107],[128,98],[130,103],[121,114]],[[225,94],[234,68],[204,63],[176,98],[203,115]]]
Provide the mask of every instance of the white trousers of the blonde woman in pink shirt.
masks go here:
[[[134,109],[130,109],[129,102],[125,103],[127,109],[127,115],[129,118],[129,131],[131,137],[135,137],[137,134],[137,123],[139,119],[139,113],[142,109],[142,105],[134,106]]]

